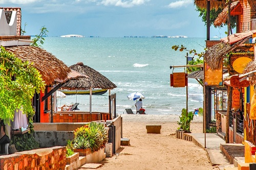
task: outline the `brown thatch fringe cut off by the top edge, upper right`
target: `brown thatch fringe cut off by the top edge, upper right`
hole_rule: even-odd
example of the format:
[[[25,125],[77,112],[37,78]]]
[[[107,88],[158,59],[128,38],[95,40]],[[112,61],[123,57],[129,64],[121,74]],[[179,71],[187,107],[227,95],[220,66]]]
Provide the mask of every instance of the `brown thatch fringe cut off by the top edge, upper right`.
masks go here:
[[[207,9],[207,0],[195,0],[194,4],[201,8],[201,9]],[[219,9],[219,8],[225,8],[226,7],[226,1],[210,1],[210,10],[212,9]]]

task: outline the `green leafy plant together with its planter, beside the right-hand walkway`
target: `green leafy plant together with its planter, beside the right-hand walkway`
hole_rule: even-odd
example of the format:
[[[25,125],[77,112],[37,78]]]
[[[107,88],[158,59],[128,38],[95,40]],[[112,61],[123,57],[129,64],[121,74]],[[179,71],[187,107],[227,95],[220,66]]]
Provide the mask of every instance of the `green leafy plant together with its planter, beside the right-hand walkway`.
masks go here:
[[[193,120],[194,114],[193,112],[188,112],[185,108],[182,109],[180,122],[177,122],[180,127],[176,131],[176,138],[183,139],[183,133],[191,133],[190,132],[190,122]]]

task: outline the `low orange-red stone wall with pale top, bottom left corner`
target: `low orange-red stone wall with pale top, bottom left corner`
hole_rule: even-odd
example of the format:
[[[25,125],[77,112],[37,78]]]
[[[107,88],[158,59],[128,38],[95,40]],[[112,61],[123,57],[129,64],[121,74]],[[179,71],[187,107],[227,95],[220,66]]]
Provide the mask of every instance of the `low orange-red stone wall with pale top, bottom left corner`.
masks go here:
[[[65,166],[66,147],[37,149],[0,156],[0,169],[64,170]]]

